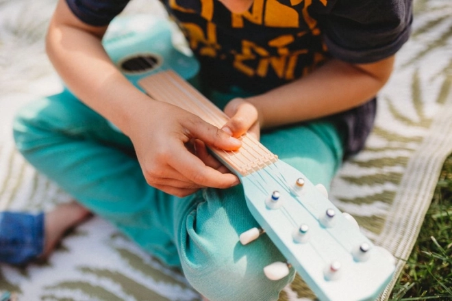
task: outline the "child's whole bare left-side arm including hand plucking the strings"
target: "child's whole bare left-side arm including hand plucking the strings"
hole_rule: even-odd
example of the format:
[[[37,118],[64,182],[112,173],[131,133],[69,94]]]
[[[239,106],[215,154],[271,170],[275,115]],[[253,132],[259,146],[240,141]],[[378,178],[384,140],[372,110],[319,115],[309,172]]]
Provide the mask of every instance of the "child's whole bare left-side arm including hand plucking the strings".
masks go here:
[[[199,159],[186,144],[199,138],[231,150],[240,141],[182,109],[153,101],[129,83],[102,47],[106,29],[79,21],[60,0],[47,34],[47,53],[68,88],[129,136],[148,183],[177,196],[237,184],[234,174]]]

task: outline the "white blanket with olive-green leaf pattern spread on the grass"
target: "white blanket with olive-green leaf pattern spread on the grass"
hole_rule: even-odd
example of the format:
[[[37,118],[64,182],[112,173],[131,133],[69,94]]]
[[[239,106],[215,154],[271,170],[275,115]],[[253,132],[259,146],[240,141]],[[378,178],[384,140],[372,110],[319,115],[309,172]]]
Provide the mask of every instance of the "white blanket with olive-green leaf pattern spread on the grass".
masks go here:
[[[158,3],[149,2],[134,0],[123,14],[140,9],[164,15]],[[43,45],[54,5],[54,0],[0,0],[0,210],[49,210],[71,199],[24,161],[11,135],[18,107],[61,89]],[[452,2],[418,0],[415,12],[412,38],[379,94],[371,138],[344,163],[331,189],[331,200],[398,259],[381,300],[388,300],[412,250],[452,150]],[[101,218],[65,237],[47,263],[0,265],[0,291],[31,301],[199,300],[184,276]],[[313,299],[299,277],[281,293],[281,300]]]

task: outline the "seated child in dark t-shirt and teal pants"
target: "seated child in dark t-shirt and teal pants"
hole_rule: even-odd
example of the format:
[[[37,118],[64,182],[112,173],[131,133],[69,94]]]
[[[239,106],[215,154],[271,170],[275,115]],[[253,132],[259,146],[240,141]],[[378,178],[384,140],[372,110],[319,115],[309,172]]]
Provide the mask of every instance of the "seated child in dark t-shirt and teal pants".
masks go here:
[[[234,150],[251,131],[328,187],[371,130],[375,94],[410,34],[411,1],[163,3],[201,64],[198,88],[231,117],[222,129],[142,94],[112,64],[101,38],[127,0],[60,0],[47,52],[77,98],[21,110],[17,147],[206,298],[277,300],[294,271],[268,280],[262,268],[284,260],[279,250],[265,235],[238,243],[257,224],[237,177],[205,144]]]

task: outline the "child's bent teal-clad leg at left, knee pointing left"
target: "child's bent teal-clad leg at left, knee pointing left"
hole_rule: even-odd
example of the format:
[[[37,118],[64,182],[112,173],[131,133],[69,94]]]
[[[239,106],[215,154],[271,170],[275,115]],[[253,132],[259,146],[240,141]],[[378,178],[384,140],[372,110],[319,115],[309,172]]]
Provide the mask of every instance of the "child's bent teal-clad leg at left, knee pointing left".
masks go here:
[[[62,92],[21,109],[14,138],[37,170],[82,205],[162,261],[179,265],[160,222],[168,196],[147,185],[129,138],[99,114]]]

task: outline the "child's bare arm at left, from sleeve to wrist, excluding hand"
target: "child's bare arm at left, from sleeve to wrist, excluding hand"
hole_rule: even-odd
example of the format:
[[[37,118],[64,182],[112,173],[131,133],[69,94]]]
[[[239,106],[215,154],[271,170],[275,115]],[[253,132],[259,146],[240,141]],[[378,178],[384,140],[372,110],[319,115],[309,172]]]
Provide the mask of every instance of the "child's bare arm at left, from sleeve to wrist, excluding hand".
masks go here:
[[[149,97],[112,64],[101,44],[105,30],[81,23],[60,1],[47,33],[47,53],[68,88],[127,133],[134,107],[142,101],[149,105]]]

